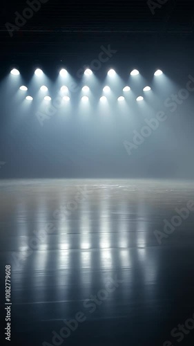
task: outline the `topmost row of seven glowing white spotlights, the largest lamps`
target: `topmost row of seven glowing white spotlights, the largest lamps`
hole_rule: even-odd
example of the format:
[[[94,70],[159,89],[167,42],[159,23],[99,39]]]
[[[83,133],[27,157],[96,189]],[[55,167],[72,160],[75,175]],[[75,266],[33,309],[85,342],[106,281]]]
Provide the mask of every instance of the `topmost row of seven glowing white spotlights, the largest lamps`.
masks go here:
[[[17,69],[12,69],[12,71],[10,71],[10,73],[12,75],[20,75],[19,70],[17,70]],[[61,77],[66,77],[66,75],[68,75],[68,71],[66,69],[61,69],[59,71],[59,74],[61,75]],[[114,77],[115,74],[116,74],[116,72],[113,69],[110,69],[108,71],[108,75],[110,77]],[[43,75],[43,71],[41,69],[36,69],[35,70],[35,75],[37,75],[37,77],[41,77],[41,75]],[[90,70],[90,69],[86,69],[84,71],[84,75],[88,75],[88,76],[89,75],[93,75],[93,71]],[[139,75],[139,71],[135,69],[135,70],[130,72],[130,75]],[[162,75],[162,71],[161,70],[157,70],[157,71],[155,71],[154,75],[156,75],[156,76]]]

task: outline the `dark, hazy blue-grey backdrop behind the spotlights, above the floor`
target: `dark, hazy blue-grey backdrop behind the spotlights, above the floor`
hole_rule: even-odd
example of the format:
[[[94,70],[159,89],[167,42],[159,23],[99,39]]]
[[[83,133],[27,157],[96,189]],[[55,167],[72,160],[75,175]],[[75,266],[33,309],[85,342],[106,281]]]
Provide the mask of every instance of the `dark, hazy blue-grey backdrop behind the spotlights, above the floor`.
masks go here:
[[[193,179],[193,105],[191,94],[145,143],[128,156],[124,140],[132,141],[133,130],[144,118],[164,109],[164,100],[186,86],[193,66],[193,1],[168,0],[152,15],[146,1],[54,1],[10,37],[5,23],[14,24],[14,12],[22,13],[26,1],[1,4],[1,178],[30,177],[162,177]],[[36,66],[41,66],[55,85],[60,66],[65,66],[78,84],[77,71],[97,59],[101,46],[117,53],[95,72],[102,85],[111,67],[128,82],[137,68],[153,86],[153,98],[145,107],[135,97],[145,86],[130,85],[134,100],[128,108],[111,105],[108,115],[79,111],[79,93],[72,95],[72,109],[60,110],[41,127],[35,116],[35,98],[23,107],[9,72],[17,66],[22,84],[30,84]],[[155,69],[164,71],[168,83],[154,89]],[[167,85],[168,84],[168,85]],[[102,86],[101,86],[102,87]],[[55,88],[54,88],[55,89]],[[122,89],[121,89],[122,90]],[[32,93],[36,93],[36,85]],[[56,90],[53,90],[53,97]],[[95,89],[94,97],[99,98]],[[148,107],[146,107],[148,106]]]

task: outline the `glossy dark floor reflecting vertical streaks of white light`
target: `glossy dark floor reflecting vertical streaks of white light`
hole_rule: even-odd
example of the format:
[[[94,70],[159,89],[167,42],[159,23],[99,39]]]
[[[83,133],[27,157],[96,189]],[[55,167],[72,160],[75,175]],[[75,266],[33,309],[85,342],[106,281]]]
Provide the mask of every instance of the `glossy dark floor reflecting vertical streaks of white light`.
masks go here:
[[[13,345],[193,345],[194,183],[0,188],[1,316],[10,264]]]

